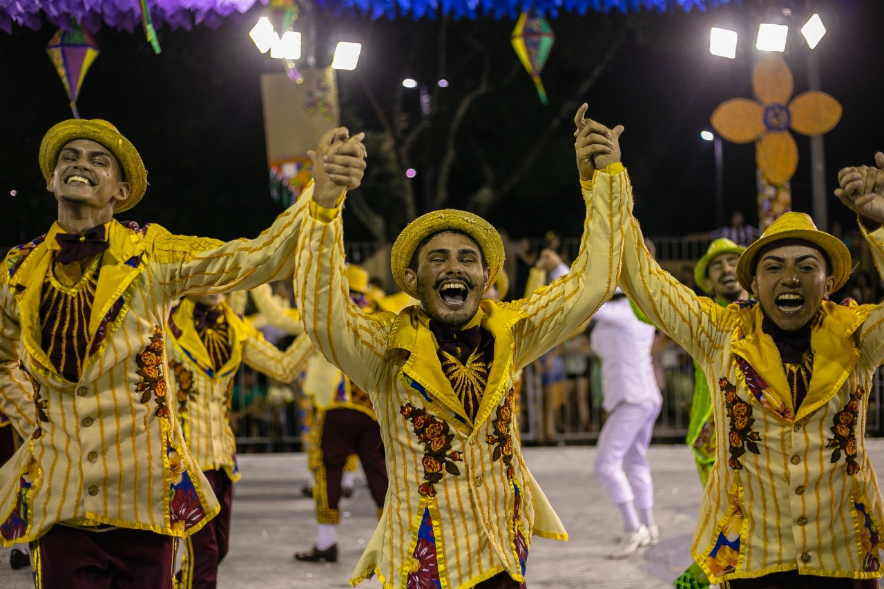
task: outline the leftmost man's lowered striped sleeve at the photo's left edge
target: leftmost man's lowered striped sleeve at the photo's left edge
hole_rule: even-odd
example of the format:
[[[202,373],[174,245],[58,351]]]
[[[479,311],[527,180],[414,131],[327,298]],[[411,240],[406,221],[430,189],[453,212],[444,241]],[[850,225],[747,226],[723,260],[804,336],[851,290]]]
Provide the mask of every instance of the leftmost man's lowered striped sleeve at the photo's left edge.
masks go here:
[[[3,272],[5,275],[6,264]],[[0,411],[9,417],[22,439],[27,440],[36,425],[36,408],[34,386],[19,363],[20,333],[18,306],[3,279],[0,282]]]

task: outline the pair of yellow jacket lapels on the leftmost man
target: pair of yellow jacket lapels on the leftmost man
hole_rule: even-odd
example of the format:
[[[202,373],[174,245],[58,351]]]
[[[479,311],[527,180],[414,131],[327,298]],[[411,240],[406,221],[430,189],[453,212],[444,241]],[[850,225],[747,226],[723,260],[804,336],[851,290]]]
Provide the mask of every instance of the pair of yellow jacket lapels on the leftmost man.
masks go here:
[[[19,303],[21,334],[25,348],[44,369],[53,373],[55,369],[40,345],[40,299],[43,279],[47,272],[52,272],[52,254],[60,249],[55,239],[57,233],[62,233],[62,228],[56,222],[46,234],[46,239],[34,248],[9,279],[9,285]],[[108,225],[107,240],[110,242],[110,247],[102,254],[98,286],[89,318],[90,341],[95,337],[98,325],[101,325],[110,307],[118,302],[126,292],[126,288],[143,269],[141,256],[145,249],[143,235],[135,233],[113,219]],[[125,310],[120,310],[119,313],[125,313]],[[110,335],[106,333],[105,339],[110,338]],[[87,358],[87,363],[91,357]]]

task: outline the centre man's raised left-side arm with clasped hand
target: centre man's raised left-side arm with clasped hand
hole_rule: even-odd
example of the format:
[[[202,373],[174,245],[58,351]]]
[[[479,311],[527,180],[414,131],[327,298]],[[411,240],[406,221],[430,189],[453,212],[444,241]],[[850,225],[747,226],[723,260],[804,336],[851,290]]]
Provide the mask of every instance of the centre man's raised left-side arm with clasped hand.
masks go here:
[[[345,191],[359,186],[365,151],[361,135],[331,139],[312,154],[316,192],[301,229],[295,297],[316,350],[356,386],[374,391],[395,315],[368,315],[350,300],[340,205]]]

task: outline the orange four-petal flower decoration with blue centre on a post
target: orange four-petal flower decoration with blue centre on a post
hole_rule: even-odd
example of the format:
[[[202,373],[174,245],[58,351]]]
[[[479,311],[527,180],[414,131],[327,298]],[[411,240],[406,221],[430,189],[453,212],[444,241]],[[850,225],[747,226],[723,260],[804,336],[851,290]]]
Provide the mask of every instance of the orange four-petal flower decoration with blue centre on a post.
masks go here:
[[[713,128],[729,142],[756,142],[758,168],[771,184],[785,184],[798,166],[798,147],[789,128],[804,135],[828,133],[841,119],[841,103],[816,91],[792,98],[792,72],[777,56],[758,62],[752,89],[758,102],[732,98],[720,103],[713,112]]]

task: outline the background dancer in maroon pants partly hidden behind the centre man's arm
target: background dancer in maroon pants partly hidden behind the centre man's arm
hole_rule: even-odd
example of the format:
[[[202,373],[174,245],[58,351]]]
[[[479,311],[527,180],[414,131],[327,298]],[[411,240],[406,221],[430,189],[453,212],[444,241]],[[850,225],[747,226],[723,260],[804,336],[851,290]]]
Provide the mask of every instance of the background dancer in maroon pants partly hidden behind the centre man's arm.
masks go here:
[[[362,266],[347,264],[350,300],[361,310],[371,311],[365,294],[369,273]],[[343,494],[343,474],[347,457],[359,456],[369,484],[371,499],[380,515],[387,490],[387,473],[377,416],[370,395],[347,378],[337,366],[314,351],[306,337],[311,356],[305,366],[301,388],[313,404],[313,439],[310,456],[313,470],[313,501],[316,505],[318,538],[306,552],[294,555],[306,562],[338,561],[338,505]]]

